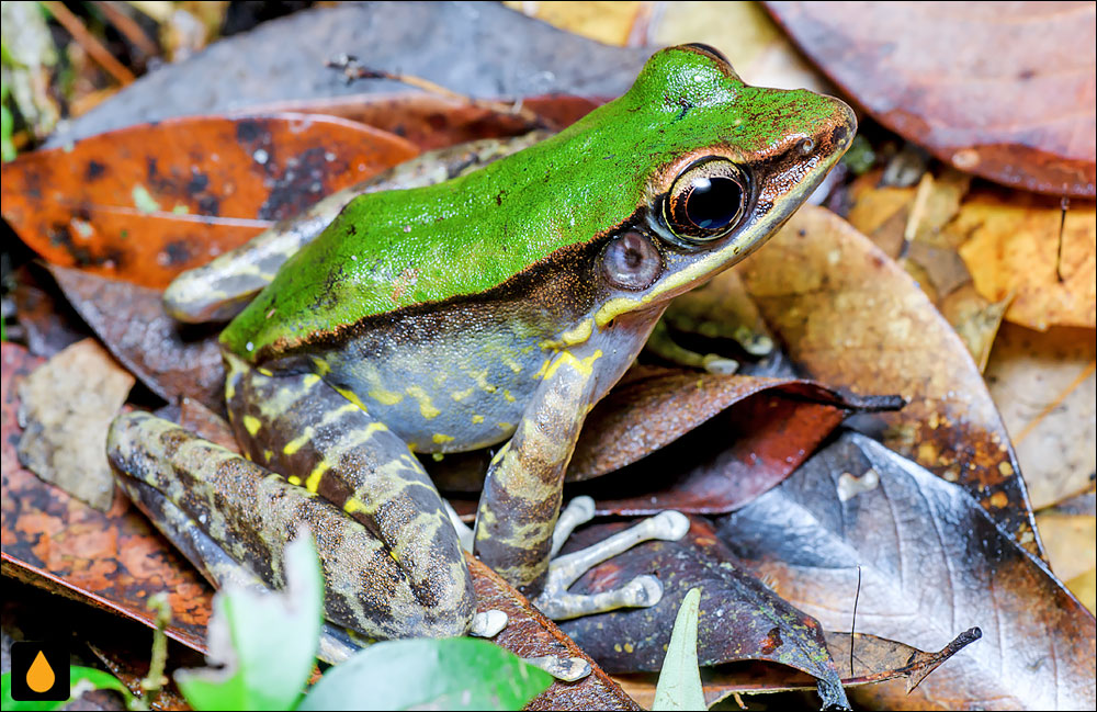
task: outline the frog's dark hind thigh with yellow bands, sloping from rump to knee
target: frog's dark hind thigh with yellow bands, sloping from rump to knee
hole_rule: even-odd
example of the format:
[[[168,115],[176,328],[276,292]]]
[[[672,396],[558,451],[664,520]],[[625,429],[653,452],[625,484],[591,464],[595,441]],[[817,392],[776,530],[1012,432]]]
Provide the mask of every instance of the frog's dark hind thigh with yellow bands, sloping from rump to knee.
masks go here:
[[[361,522],[430,615],[467,625],[475,597],[464,555],[407,444],[315,374],[273,375],[231,355],[226,364],[233,429],[251,459]]]

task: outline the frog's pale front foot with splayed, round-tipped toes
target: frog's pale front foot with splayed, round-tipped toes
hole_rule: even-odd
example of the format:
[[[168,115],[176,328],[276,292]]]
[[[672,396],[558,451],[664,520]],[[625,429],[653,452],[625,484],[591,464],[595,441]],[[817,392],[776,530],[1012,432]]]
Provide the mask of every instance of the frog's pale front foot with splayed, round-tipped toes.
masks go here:
[[[561,513],[553,534],[553,554],[577,525],[593,518],[590,497],[576,497]],[[603,613],[618,608],[646,608],[663,598],[663,584],[655,576],[637,576],[621,588],[600,594],[569,594],[567,589],[588,569],[653,539],[678,541],[689,531],[689,519],[677,511],[665,511],[618,532],[586,549],[557,556],[548,564],[544,590],[533,603],[548,618],[562,621],[580,615]]]

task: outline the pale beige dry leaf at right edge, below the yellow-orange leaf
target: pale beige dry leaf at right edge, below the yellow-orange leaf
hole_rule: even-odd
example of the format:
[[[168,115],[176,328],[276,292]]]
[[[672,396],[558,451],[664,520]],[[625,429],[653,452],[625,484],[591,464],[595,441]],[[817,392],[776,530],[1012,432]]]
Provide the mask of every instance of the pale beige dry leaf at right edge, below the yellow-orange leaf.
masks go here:
[[[998,332],[986,384],[1025,473],[1034,509],[1085,490],[1097,453],[1094,399],[1097,341],[1090,329]]]

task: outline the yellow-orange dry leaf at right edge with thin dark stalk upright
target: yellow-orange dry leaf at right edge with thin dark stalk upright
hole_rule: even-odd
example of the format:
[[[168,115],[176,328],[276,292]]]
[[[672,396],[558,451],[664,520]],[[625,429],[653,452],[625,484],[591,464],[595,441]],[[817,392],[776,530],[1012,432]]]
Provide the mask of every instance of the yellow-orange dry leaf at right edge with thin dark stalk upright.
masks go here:
[[[948,229],[968,237],[960,257],[980,294],[992,302],[1014,295],[1007,320],[1041,331],[1097,326],[1094,203],[1071,202],[1064,221],[1058,200],[980,191]]]

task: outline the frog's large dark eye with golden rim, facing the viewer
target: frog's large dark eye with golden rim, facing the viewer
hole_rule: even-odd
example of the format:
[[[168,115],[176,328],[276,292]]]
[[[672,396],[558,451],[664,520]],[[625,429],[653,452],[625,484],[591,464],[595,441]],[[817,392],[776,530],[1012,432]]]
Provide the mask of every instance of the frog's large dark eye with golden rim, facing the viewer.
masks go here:
[[[663,204],[663,216],[678,237],[705,242],[730,233],[743,216],[746,180],[724,158],[693,163],[675,179]]]

